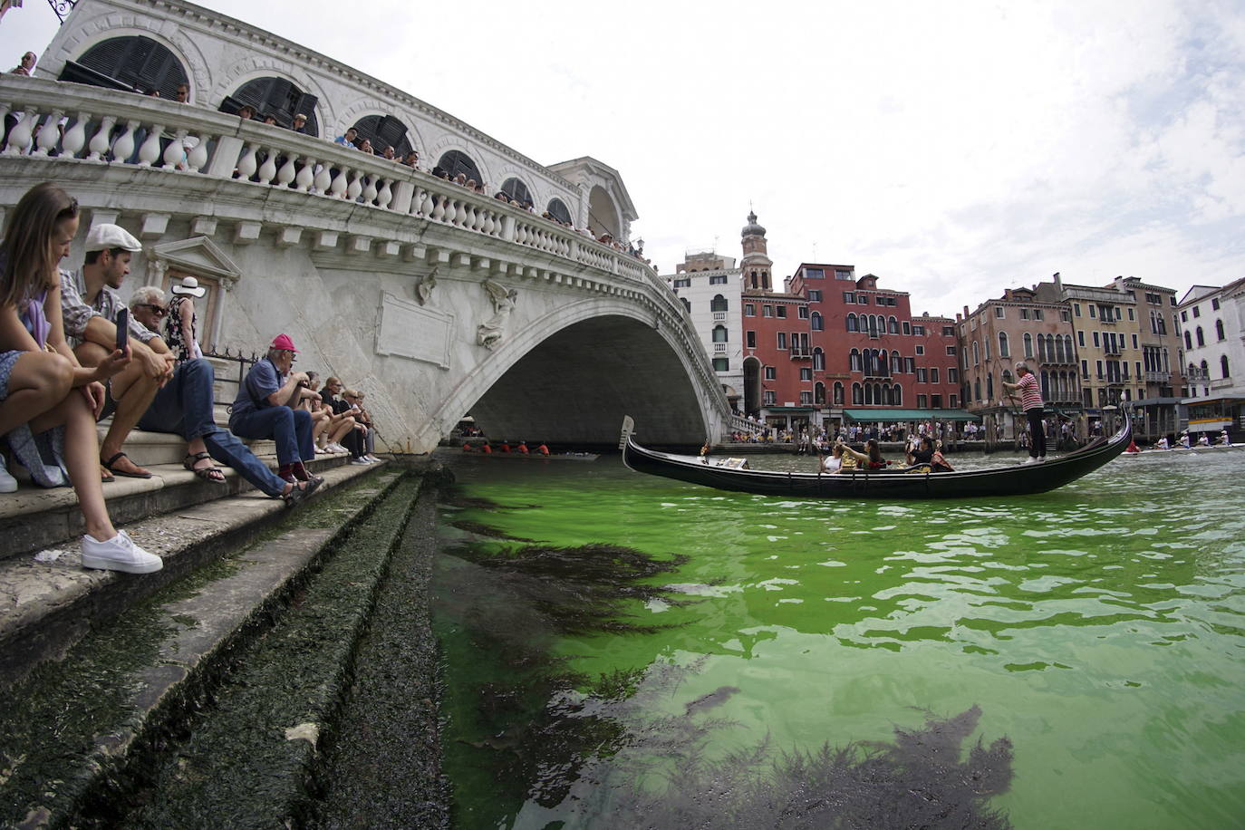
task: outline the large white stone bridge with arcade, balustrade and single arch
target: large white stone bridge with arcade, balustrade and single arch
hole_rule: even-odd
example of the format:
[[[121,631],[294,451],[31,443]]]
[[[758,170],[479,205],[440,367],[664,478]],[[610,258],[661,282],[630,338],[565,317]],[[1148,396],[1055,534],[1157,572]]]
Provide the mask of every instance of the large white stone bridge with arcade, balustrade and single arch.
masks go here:
[[[44,180],[75,195],[82,231],[67,266],[81,264],[92,224],[127,228],[144,249],[122,294],[195,276],[209,289],[198,301],[205,350],[263,351],[289,333],[299,368],[366,391],[385,437],[416,452],[467,413],[494,438],[571,444],[615,442],[624,414],[651,443],[698,444],[731,428],[670,287],[632,253],[539,215],[557,202],[576,226],[626,239],[635,215],[616,172],[591,158],[538,166],[274,35],[172,9],[83,0],[44,56],[44,77],[0,78],[11,127],[0,209]],[[78,58],[118,37],[174,55],[192,103],[52,80],[81,73]],[[331,124],[325,137],[222,112],[215,105],[249,76],[213,37],[244,42],[255,72],[315,90],[294,106],[314,107]],[[406,113],[410,148],[458,153],[491,190],[331,141],[371,111]],[[492,198],[507,175],[510,192],[520,180],[539,200],[535,213]]]

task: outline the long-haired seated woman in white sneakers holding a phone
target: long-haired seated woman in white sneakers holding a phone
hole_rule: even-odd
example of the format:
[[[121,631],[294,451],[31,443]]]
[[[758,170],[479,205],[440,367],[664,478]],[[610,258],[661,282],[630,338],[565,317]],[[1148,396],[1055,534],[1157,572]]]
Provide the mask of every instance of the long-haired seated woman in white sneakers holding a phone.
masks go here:
[[[129,363],[129,350],[113,351],[95,368],[83,368],[65,341],[57,263],[68,255],[77,229],[77,202],[50,182],[27,190],[5,223],[0,243],[0,436],[44,487],[65,484],[65,470],[59,459],[45,460],[39,443],[49,439],[55,455],[63,437],[68,478],[86,524],[82,565],[149,574],[163,562],[125,530],[113,528],[98,468],[95,417],[103,407],[101,381]],[[63,432],[49,433],[60,427]]]

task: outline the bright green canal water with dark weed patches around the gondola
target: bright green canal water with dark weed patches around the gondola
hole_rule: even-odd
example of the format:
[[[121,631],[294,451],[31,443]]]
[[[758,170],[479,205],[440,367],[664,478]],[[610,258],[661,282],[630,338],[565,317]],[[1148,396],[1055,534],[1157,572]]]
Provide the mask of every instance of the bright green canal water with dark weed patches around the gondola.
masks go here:
[[[1243,462],[847,503],[456,458],[457,826],[1243,826]]]

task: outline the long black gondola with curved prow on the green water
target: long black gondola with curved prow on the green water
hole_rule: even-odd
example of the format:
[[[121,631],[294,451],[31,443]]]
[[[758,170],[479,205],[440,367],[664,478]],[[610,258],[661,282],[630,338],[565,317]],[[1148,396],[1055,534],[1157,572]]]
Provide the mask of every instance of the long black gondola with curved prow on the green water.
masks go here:
[[[1132,441],[1132,426],[1111,439],[1096,438],[1081,449],[1045,464],[1017,464],[954,473],[905,473],[901,470],[854,470],[850,473],[783,473],[776,470],[728,469],[693,455],[675,455],[646,449],[635,442],[624,421],[622,463],[637,473],[661,475],[718,490],[810,499],[962,499],[970,497],[1028,495],[1046,493],[1088,475],[1124,452]]]

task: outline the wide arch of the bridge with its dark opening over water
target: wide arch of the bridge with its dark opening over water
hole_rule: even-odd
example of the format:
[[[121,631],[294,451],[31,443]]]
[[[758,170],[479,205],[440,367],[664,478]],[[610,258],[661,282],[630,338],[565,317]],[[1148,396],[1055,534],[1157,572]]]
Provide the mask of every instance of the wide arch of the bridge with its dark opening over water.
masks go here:
[[[649,444],[698,445],[718,428],[702,397],[686,355],[650,311],[583,300],[533,320],[489,353],[428,429],[444,434],[471,413],[494,439],[611,445],[630,414]]]

